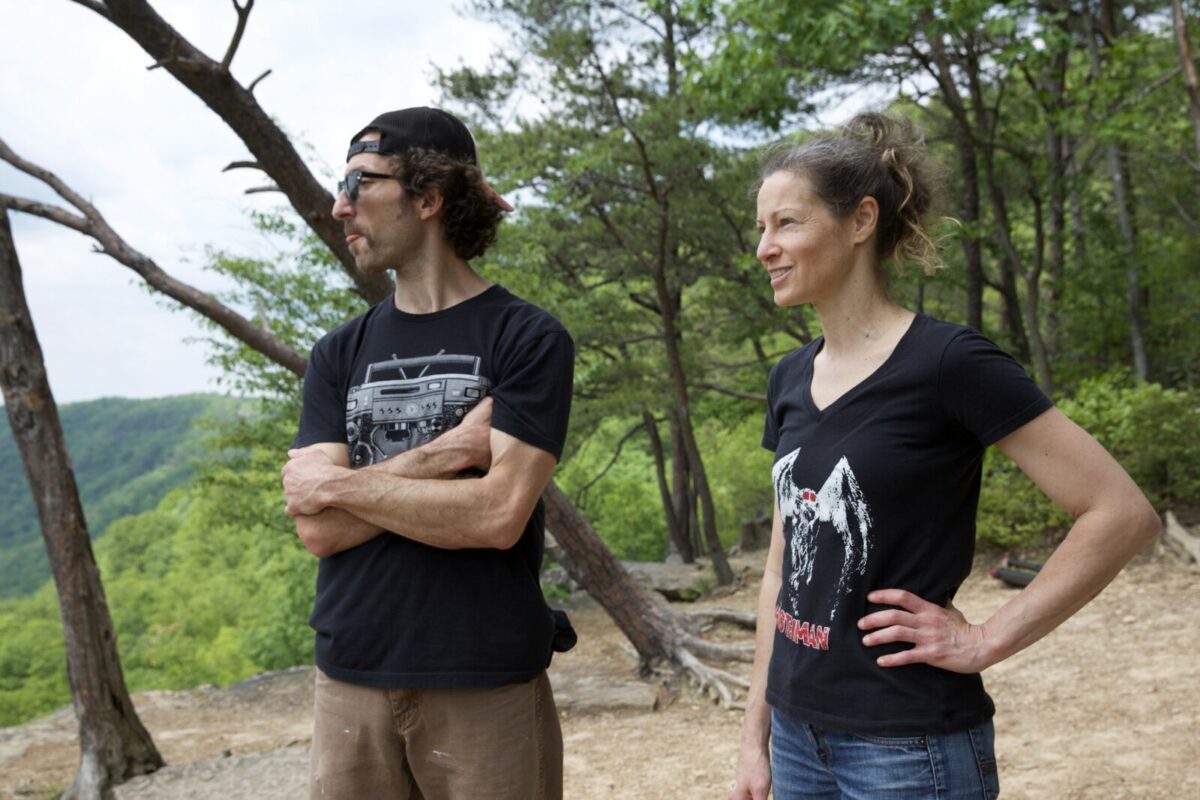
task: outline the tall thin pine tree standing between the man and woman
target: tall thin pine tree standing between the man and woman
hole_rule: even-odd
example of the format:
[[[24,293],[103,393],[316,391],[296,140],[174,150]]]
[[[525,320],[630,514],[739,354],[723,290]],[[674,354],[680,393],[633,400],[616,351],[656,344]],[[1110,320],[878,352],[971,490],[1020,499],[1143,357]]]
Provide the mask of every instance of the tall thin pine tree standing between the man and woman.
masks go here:
[[[714,142],[716,108],[686,82],[685,65],[713,47],[710,31],[677,1],[505,0],[475,10],[524,54],[442,76],[450,98],[482,124],[491,175],[528,198],[502,259],[535,267],[541,285],[566,283],[560,309],[582,345],[584,419],[624,410],[636,420],[641,410],[677,551],[686,558],[698,518],[701,545],[727,582],[700,398],[761,402],[730,384],[751,375],[762,385],[778,330],[792,344],[811,337],[803,311],[774,307],[749,258],[755,158]],[[520,98],[533,94],[530,114]]]

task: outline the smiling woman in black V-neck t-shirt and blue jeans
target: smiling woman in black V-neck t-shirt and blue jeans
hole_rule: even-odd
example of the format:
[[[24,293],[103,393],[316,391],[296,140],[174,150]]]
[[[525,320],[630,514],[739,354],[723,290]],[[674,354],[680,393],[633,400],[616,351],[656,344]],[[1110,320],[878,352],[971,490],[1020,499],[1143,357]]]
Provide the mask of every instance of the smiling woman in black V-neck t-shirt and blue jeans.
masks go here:
[[[1129,476],[979,333],[898,306],[883,265],[931,271],[932,193],[907,124],[854,118],[776,150],[758,187],[775,302],[823,336],[772,371],[775,518],[731,800],[995,798],[979,673],[1093,597],[1158,530]],[[995,444],[1075,522],[983,624],[971,571]],[[768,745],[769,742],[769,745]]]

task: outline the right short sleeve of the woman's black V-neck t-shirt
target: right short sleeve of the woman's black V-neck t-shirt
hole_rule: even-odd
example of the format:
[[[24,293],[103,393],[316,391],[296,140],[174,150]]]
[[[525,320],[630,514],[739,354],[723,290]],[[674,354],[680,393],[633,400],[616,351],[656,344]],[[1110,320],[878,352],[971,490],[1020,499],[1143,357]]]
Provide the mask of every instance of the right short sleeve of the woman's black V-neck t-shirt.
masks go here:
[[[946,413],[984,446],[1054,405],[1016,359],[972,330],[946,345],[938,391]]]

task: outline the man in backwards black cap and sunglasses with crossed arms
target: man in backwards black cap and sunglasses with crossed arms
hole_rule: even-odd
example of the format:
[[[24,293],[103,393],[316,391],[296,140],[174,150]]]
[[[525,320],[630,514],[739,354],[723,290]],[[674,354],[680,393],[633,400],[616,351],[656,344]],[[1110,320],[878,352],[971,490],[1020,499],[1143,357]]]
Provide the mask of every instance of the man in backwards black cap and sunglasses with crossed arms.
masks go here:
[[[283,468],[320,558],[313,798],[562,798],[539,498],[574,347],[468,263],[510,207],[445,112],[352,139],[334,216],[396,293],[313,348]]]

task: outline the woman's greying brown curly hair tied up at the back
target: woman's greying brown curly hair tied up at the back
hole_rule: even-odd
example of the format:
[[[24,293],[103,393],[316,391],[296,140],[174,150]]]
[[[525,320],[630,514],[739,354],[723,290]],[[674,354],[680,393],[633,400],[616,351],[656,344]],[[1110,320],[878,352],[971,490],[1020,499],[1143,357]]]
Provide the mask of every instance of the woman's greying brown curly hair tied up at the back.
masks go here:
[[[919,264],[932,275],[942,259],[924,225],[941,174],[928,157],[912,122],[899,116],[862,113],[839,137],[776,145],[767,152],[756,190],[776,172],[804,175],[833,215],[844,218],[864,197],[880,205],[876,254]]]

